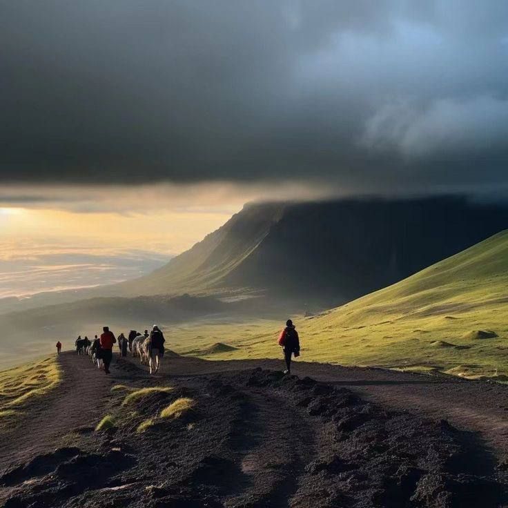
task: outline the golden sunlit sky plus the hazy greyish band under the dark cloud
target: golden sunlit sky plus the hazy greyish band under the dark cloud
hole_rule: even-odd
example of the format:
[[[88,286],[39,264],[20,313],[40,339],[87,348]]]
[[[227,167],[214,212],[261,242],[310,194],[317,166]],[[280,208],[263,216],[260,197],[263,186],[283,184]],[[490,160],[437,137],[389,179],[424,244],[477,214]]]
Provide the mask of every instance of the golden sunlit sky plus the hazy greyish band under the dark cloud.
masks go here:
[[[323,186],[298,183],[4,186],[0,297],[134,278],[202,240],[246,202],[326,195]]]

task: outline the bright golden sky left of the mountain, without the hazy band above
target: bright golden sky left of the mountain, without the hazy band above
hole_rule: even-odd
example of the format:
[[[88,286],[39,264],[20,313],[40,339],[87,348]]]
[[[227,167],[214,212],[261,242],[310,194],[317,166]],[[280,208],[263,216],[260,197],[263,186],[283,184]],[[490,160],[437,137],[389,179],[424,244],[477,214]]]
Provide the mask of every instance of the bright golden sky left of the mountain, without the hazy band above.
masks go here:
[[[120,282],[168,262],[235,211],[0,208],[0,298]]]

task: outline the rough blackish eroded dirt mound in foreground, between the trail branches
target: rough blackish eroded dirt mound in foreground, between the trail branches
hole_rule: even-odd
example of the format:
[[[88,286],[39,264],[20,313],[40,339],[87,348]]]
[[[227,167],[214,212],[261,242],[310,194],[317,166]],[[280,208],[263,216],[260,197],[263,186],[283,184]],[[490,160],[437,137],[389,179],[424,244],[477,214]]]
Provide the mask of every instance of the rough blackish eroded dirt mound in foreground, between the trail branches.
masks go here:
[[[117,427],[15,465],[6,507],[497,507],[505,478],[471,433],[385,411],[351,391],[275,371],[138,380],[173,387]],[[191,418],[164,418],[177,400]],[[139,431],[141,423],[150,424]]]

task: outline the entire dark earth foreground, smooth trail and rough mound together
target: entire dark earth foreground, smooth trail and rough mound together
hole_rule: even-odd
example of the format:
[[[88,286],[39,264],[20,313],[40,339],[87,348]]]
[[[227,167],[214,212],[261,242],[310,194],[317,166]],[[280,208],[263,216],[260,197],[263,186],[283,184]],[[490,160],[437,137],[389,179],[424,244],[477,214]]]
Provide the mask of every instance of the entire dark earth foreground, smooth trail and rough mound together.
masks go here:
[[[508,506],[504,431],[478,425],[501,422],[505,387],[170,352],[150,377],[130,360],[107,377],[61,355],[59,389],[0,436],[3,506]],[[171,389],[126,400],[147,387]],[[95,431],[106,414],[113,427]]]

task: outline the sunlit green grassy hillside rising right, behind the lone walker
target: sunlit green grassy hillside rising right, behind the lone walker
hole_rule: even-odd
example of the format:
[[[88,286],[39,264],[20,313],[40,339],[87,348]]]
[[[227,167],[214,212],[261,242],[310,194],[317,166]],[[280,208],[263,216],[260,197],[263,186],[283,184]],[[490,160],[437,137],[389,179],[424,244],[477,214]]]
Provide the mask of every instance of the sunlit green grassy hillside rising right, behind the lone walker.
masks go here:
[[[456,375],[508,375],[508,231],[317,317],[297,320],[302,359]],[[214,342],[238,349],[204,358],[276,357],[280,323],[212,324],[175,331],[177,351]],[[499,337],[473,340],[474,330]],[[435,341],[447,344],[432,344]]]

